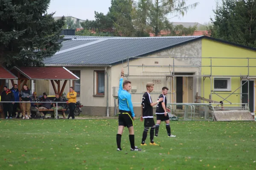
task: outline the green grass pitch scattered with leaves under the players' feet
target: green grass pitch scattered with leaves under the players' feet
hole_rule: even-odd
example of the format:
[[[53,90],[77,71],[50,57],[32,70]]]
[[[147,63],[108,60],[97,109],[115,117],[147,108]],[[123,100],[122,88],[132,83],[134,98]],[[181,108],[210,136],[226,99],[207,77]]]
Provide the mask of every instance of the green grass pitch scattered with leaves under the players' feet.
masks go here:
[[[116,151],[117,119],[0,120],[2,170],[255,170],[256,122],[173,121],[141,147],[143,123],[134,121],[131,152],[128,129]],[[146,143],[149,144],[149,133]]]

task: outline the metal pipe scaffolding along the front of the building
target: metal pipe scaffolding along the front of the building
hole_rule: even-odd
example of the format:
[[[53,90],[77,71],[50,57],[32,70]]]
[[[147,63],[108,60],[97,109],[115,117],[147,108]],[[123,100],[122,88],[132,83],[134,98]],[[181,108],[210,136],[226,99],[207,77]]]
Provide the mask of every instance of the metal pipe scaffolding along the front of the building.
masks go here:
[[[130,61],[134,60],[134,59],[139,59],[139,58],[157,58],[157,59],[172,59],[172,64],[169,64],[169,65],[145,65],[144,63],[142,65],[130,65]],[[210,60],[210,65],[202,65],[200,63],[200,65],[175,65],[175,59],[209,59]],[[247,65],[244,65],[244,66],[241,66],[241,65],[212,65],[212,60],[213,59],[247,59]],[[228,101],[227,98],[230,97],[232,94],[235,94],[235,92],[237,90],[239,90],[240,88],[240,95],[242,94],[247,94],[247,107],[249,108],[249,81],[251,78],[256,78],[256,75],[250,75],[250,68],[256,68],[256,66],[250,66],[250,60],[254,60],[256,58],[243,58],[243,57],[127,57],[125,59],[122,59],[122,66],[124,68],[128,68],[128,74],[125,75],[125,77],[127,77],[127,79],[129,80],[130,77],[152,77],[150,75],[130,75],[130,67],[142,67],[143,70],[145,67],[157,67],[157,68],[170,68],[170,75],[166,74],[166,75],[154,75],[154,77],[166,77],[166,79],[168,79],[169,77],[172,78],[172,81],[173,81],[173,90],[175,90],[175,77],[201,77],[203,78],[203,97],[204,97],[204,92],[205,92],[205,89],[204,89],[204,81],[206,78],[209,78],[210,79],[210,99],[212,98],[212,94],[215,94],[217,96],[219,96],[221,99],[223,99],[223,102],[224,101],[227,101],[228,103],[232,104],[232,102]],[[125,65],[125,62],[127,63]],[[175,72],[175,68],[203,68],[203,67],[208,67],[210,68],[210,74],[209,75],[182,75],[182,74],[177,74]],[[222,67],[235,67],[235,68],[247,68],[247,75],[212,75],[212,68],[214,67],[217,67],[217,68],[222,68]],[[171,68],[172,68],[172,71],[171,71]],[[180,73],[180,72],[179,72]],[[177,74],[177,75],[176,75]],[[237,88],[235,91],[231,92],[231,93],[222,93],[222,94],[229,94],[226,98],[222,97],[221,96],[221,93],[216,93],[213,89],[212,89],[212,78],[214,77],[240,77],[240,82],[242,82],[242,79],[246,79],[246,81],[241,84],[239,86],[239,88]],[[241,93],[241,87],[244,85],[244,84],[248,84],[248,91],[247,93]],[[231,90],[230,90],[231,91]],[[175,92],[172,91],[171,94],[173,95],[173,98],[175,98]],[[241,99],[241,97],[240,97]],[[172,99],[171,99],[172,100]],[[252,111],[251,111],[252,112]]]

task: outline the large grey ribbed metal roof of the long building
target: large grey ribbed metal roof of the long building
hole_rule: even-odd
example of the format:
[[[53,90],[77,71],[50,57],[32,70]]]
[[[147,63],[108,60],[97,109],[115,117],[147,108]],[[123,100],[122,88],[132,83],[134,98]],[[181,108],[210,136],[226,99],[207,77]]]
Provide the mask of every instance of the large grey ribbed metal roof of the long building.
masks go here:
[[[145,56],[204,36],[65,37],[72,40],[62,42],[64,49],[45,59],[46,65],[113,65],[127,57]]]

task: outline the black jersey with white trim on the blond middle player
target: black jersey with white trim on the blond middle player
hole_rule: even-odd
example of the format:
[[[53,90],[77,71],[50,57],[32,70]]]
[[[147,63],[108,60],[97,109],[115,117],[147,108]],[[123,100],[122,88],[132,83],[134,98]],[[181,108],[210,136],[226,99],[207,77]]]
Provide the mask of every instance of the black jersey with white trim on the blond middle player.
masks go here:
[[[143,107],[143,118],[153,118],[153,107],[151,96],[148,92],[145,92],[142,97],[141,105]]]

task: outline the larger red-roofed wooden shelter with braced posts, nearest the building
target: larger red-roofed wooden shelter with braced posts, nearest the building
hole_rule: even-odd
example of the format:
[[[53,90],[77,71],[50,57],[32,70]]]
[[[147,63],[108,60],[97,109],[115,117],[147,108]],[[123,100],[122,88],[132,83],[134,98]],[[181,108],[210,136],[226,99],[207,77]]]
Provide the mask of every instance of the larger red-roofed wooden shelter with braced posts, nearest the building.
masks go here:
[[[11,72],[17,76],[18,87],[20,87],[20,85],[25,85],[28,80],[51,80],[55,94],[58,93],[60,96],[63,93],[68,80],[80,79],[65,67],[14,67]],[[64,80],[62,87],[61,80]],[[12,85],[14,85],[14,81],[11,81]],[[54,82],[57,83],[57,88],[55,87]]]

